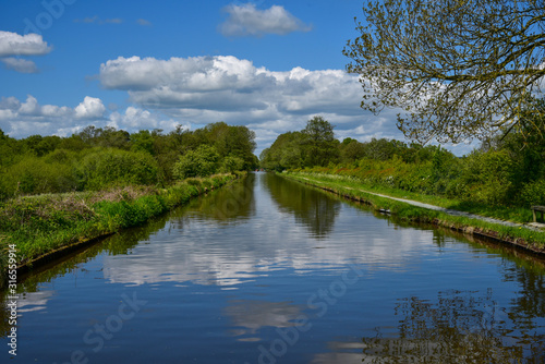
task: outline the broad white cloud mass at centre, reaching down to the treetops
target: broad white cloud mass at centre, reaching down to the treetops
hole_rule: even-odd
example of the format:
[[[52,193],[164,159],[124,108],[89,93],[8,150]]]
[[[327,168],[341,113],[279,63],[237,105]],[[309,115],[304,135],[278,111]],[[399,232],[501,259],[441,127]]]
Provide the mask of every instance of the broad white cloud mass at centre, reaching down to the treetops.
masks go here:
[[[168,60],[119,57],[101,64],[99,80],[105,88],[128,92],[130,100],[143,110],[155,110],[172,120],[247,125],[256,132],[257,153],[278,134],[303,129],[316,114],[337,125],[339,137],[402,138],[396,128],[399,111],[383,111],[380,117],[391,121],[388,123],[365,113],[360,108],[359,77],[343,70],[296,66],[278,72],[232,56]],[[362,124],[367,132],[354,135]]]

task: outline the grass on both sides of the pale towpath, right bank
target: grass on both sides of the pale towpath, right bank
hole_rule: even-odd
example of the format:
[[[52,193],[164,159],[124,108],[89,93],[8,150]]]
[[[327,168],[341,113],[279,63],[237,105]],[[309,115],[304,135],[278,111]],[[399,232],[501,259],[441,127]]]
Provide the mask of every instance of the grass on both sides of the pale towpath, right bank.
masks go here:
[[[393,201],[366,193],[358,181],[344,178],[342,175],[305,173],[305,172],[284,172],[281,175],[295,180],[305,184],[311,184],[316,187],[330,191],[342,195],[347,198],[364,202],[376,210],[387,210],[390,214],[398,216],[401,219],[416,222],[432,222],[438,226],[448,227],[450,229],[464,231],[477,235],[488,236],[529,248],[536,253],[545,253],[545,232],[533,231],[523,227],[508,227],[498,223],[491,223],[479,219],[451,216],[443,211],[431,210],[407,203]],[[376,189],[375,191],[377,192]],[[408,195],[407,191],[378,191],[382,194],[393,197],[409,198],[423,203],[428,203],[441,207],[452,208],[458,202],[449,202],[446,198],[437,198],[434,196]],[[475,211],[472,211],[475,213]],[[488,210],[488,215],[496,215],[494,210]],[[514,213],[516,214],[516,213]],[[520,214],[520,213],[519,213]],[[509,215],[508,213],[500,215]]]

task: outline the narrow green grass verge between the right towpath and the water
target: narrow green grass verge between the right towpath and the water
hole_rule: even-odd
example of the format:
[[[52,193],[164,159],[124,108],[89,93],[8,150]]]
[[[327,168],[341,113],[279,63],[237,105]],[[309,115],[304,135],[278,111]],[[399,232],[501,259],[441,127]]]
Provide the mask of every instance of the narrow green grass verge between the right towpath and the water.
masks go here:
[[[492,223],[475,218],[452,216],[444,211],[413,206],[388,197],[377,196],[359,189],[351,187],[339,175],[318,174],[303,171],[284,171],[279,175],[311,185],[341,197],[358,201],[371,206],[374,210],[391,214],[398,218],[413,222],[433,223],[468,234],[493,239],[502,243],[522,247],[535,254],[545,255],[545,231],[535,231],[522,226],[510,227]]]

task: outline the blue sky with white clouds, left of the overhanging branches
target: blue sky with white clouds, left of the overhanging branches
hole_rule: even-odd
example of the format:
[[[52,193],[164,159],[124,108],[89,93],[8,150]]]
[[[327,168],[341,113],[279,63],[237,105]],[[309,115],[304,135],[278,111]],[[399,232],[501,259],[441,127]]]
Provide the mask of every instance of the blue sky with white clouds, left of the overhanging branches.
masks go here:
[[[319,114],[337,136],[403,139],[344,72],[361,0],[0,0],[0,129],[71,135],[247,125],[258,154]],[[457,154],[470,148],[458,146]]]

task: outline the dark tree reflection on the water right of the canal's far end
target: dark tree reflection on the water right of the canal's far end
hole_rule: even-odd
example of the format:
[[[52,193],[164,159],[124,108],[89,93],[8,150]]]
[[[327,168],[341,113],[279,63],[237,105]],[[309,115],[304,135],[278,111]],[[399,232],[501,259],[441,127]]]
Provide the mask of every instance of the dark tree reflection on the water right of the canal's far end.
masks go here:
[[[341,208],[339,199],[271,173],[267,173],[262,183],[278,208],[293,215],[295,221],[305,226],[312,236],[324,239],[332,231]]]

